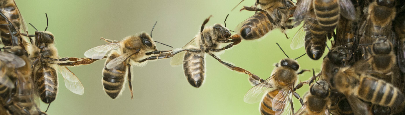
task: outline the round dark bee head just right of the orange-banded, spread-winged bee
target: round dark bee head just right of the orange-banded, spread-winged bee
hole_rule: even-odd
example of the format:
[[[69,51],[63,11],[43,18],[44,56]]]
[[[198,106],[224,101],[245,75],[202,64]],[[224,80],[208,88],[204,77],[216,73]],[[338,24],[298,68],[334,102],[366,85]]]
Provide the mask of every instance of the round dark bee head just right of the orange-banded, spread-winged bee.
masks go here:
[[[309,88],[312,95],[325,98],[328,96],[328,82],[326,80],[319,80],[312,84]]]

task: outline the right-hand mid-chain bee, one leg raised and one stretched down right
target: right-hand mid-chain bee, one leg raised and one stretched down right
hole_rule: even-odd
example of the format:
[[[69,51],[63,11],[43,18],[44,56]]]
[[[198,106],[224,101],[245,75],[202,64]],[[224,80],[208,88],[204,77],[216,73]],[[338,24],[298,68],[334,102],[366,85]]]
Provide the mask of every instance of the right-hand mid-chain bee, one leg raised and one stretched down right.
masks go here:
[[[177,66],[183,64],[184,75],[187,78],[188,82],[198,88],[203,84],[205,80],[205,54],[208,53],[211,57],[218,60],[221,64],[228,67],[230,70],[237,72],[242,72],[248,74],[254,80],[260,80],[260,78],[251,72],[233,66],[232,64],[222,61],[215,53],[224,51],[234,45],[237,45],[241,42],[239,35],[231,35],[229,29],[224,27],[222,24],[214,24],[211,27],[205,27],[205,24],[208,23],[209,16],[205,19],[203,25],[201,26],[200,32],[187,43],[183,49],[173,53],[173,58],[170,62],[172,66]],[[225,19],[226,21],[226,19]],[[221,47],[222,43],[230,43],[225,47]],[[176,54],[178,53],[178,54]],[[252,80],[250,80],[252,82]],[[262,80],[264,81],[264,80]]]

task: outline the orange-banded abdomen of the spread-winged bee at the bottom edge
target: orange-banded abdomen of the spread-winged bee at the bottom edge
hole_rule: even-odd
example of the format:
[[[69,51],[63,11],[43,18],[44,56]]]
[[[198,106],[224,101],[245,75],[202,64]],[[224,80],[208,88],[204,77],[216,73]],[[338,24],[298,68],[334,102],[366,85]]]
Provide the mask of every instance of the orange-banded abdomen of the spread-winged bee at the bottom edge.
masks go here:
[[[262,115],[275,115],[275,111],[273,111],[273,100],[274,97],[279,93],[279,90],[273,90],[271,92],[268,92],[264,97],[262,102],[259,105],[259,111]],[[283,102],[276,102],[276,103],[283,103]],[[277,108],[277,112],[280,112],[284,109],[284,106],[282,108]]]

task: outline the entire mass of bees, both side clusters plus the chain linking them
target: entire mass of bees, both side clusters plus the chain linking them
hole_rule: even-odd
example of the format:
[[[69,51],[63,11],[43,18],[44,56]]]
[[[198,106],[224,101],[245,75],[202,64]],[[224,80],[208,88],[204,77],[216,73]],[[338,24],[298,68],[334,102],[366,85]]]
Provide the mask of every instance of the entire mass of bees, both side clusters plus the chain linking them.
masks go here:
[[[296,3],[256,0],[252,6],[241,8],[240,11],[255,13],[234,31],[226,27],[226,19],[224,25],[206,26],[209,16],[194,39],[182,48],[158,50],[155,43],[160,42],[152,39],[153,26],[150,34],[141,32],[121,41],[101,38],[107,44],[87,50],[85,57],[62,58],[55,47],[55,37],[47,28],[28,33],[14,0],[0,0],[0,36],[4,45],[0,48],[0,115],[47,115],[39,109],[38,101],[50,105],[55,100],[57,72],[64,78],[66,88],[83,94],[83,85],[66,66],[92,64],[104,58],[107,59],[102,85],[112,99],[122,94],[125,82],[131,99],[134,97],[132,66],[165,58],[171,58],[172,66],[182,65],[187,81],[198,88],[205,81],[206,54],[230,70],[249,76],[253,87],[245,94],[244,101],[260,102],[262,115],[404,115],[404,3],[400,0],[298,0]],[[306,53],[290,59],[277,43],[286,58],[275,65],[265,80],[217,56],[243,40],[260,39],[274,29],[280,29],[288,38],[286,30],[295,27],[301,28],[292,37],[290,47],[305,46]],[[296,60],[304,55],[319,60],[325,49],[329,52],[323,58],[320,73],[315,74],[312,69],[309,80],[298,82],[299,74],[311,70],[300,70]],[[309,85],[307,93],[300,96],[295,92],[306,84]],[[293,98],[302,105],[297,111],[292,106]]]

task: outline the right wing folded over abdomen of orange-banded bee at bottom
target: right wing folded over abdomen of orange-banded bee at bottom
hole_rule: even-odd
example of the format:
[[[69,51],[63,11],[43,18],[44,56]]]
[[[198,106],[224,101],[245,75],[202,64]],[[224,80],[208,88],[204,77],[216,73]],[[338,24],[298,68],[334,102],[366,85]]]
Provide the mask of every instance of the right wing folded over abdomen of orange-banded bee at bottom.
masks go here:
[[[275,115],[292,115],[291,103],[292,99],[290,98],[291,93],[290,89],[280,90],[279,93],[273,98],[273,111]]]

